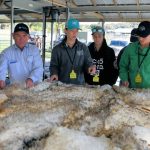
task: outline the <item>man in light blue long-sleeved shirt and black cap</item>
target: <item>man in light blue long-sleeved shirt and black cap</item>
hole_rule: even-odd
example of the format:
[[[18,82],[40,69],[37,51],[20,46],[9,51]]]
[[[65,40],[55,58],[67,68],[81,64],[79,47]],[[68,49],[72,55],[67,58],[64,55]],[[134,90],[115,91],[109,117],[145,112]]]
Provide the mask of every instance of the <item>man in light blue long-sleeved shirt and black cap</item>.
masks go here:
[[[12,35],[15,44],[0,55],[0,89],[6,86],[7,72],[10,84],[26,84],[27,88],[32,87],[42,81],[43,76],[39,49],[28,43],[29,28],[26,24],[17,24]]]

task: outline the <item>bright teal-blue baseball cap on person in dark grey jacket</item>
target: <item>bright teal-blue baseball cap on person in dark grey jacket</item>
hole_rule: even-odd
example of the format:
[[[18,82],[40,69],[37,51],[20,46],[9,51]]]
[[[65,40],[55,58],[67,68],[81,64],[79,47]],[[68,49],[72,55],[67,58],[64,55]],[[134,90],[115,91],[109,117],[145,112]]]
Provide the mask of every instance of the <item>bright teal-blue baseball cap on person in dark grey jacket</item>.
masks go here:
[[[67,30],[80,29],[79,21],[77,19],[68,19],[65,28]]]

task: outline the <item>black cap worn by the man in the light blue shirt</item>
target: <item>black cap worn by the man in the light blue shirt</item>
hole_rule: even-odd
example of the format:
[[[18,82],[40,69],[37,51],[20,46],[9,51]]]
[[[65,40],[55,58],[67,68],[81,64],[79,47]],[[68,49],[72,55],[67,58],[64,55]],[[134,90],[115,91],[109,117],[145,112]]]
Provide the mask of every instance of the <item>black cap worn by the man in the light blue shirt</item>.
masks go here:
[[[29,28],[26,24],[24,23],[18,23],[16,26],[15,26],[15,29],[14,29],[14,32],[19,32],[19,31],[22,31],[22,32],[25,32],[27,34],[29,34]]]

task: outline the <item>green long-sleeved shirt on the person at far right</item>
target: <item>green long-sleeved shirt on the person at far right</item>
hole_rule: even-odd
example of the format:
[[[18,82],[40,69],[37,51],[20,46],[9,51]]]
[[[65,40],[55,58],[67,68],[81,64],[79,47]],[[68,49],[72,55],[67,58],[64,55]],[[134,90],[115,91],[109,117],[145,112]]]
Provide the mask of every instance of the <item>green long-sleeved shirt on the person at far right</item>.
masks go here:
[[[142,49],[139,42],[129,44],[121,56],[119,67],[120,79],[129,81],[131,88],[150,88],[150,47]],[[140,83],[135,81],[138,73],[142,80]]]

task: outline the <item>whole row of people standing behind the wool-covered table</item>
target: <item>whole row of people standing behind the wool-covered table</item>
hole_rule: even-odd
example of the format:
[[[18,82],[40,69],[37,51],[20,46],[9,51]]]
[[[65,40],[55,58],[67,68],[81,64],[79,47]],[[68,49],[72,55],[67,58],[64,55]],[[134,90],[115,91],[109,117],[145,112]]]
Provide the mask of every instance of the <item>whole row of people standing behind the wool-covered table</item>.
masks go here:
[[[107,45],[104,28],[92,27],[93,42],[88,47],[78,41],[79,30],[78,20],[71,18],[66,22],[66,37],[52,50],[49,82],[59,80],[66,84],[113,85],[119,75],[123,86],[150,87],[149,21],[139,24],[134,34],[137,40],[121,52],[118,67],[115,52]],[[12,36],[15,44],[0,54],[0,89],[13,83],[33,87],[43,78],[39,49],[28,43],[29,28],[24,23],[15,26]],[[6,74],[10,83],[6,82]]]

